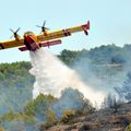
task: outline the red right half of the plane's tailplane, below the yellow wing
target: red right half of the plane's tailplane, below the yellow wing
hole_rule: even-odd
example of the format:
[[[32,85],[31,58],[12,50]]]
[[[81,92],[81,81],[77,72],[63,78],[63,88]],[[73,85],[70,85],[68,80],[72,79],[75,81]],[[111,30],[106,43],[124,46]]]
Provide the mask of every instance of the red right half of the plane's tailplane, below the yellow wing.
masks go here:
[[[58,44],[61,44],[61,43],[62,43],[61,39],[57,39],[57,40],[40,43],[39,46],[40,47],[49,47],[49,46],[58,45]]]

